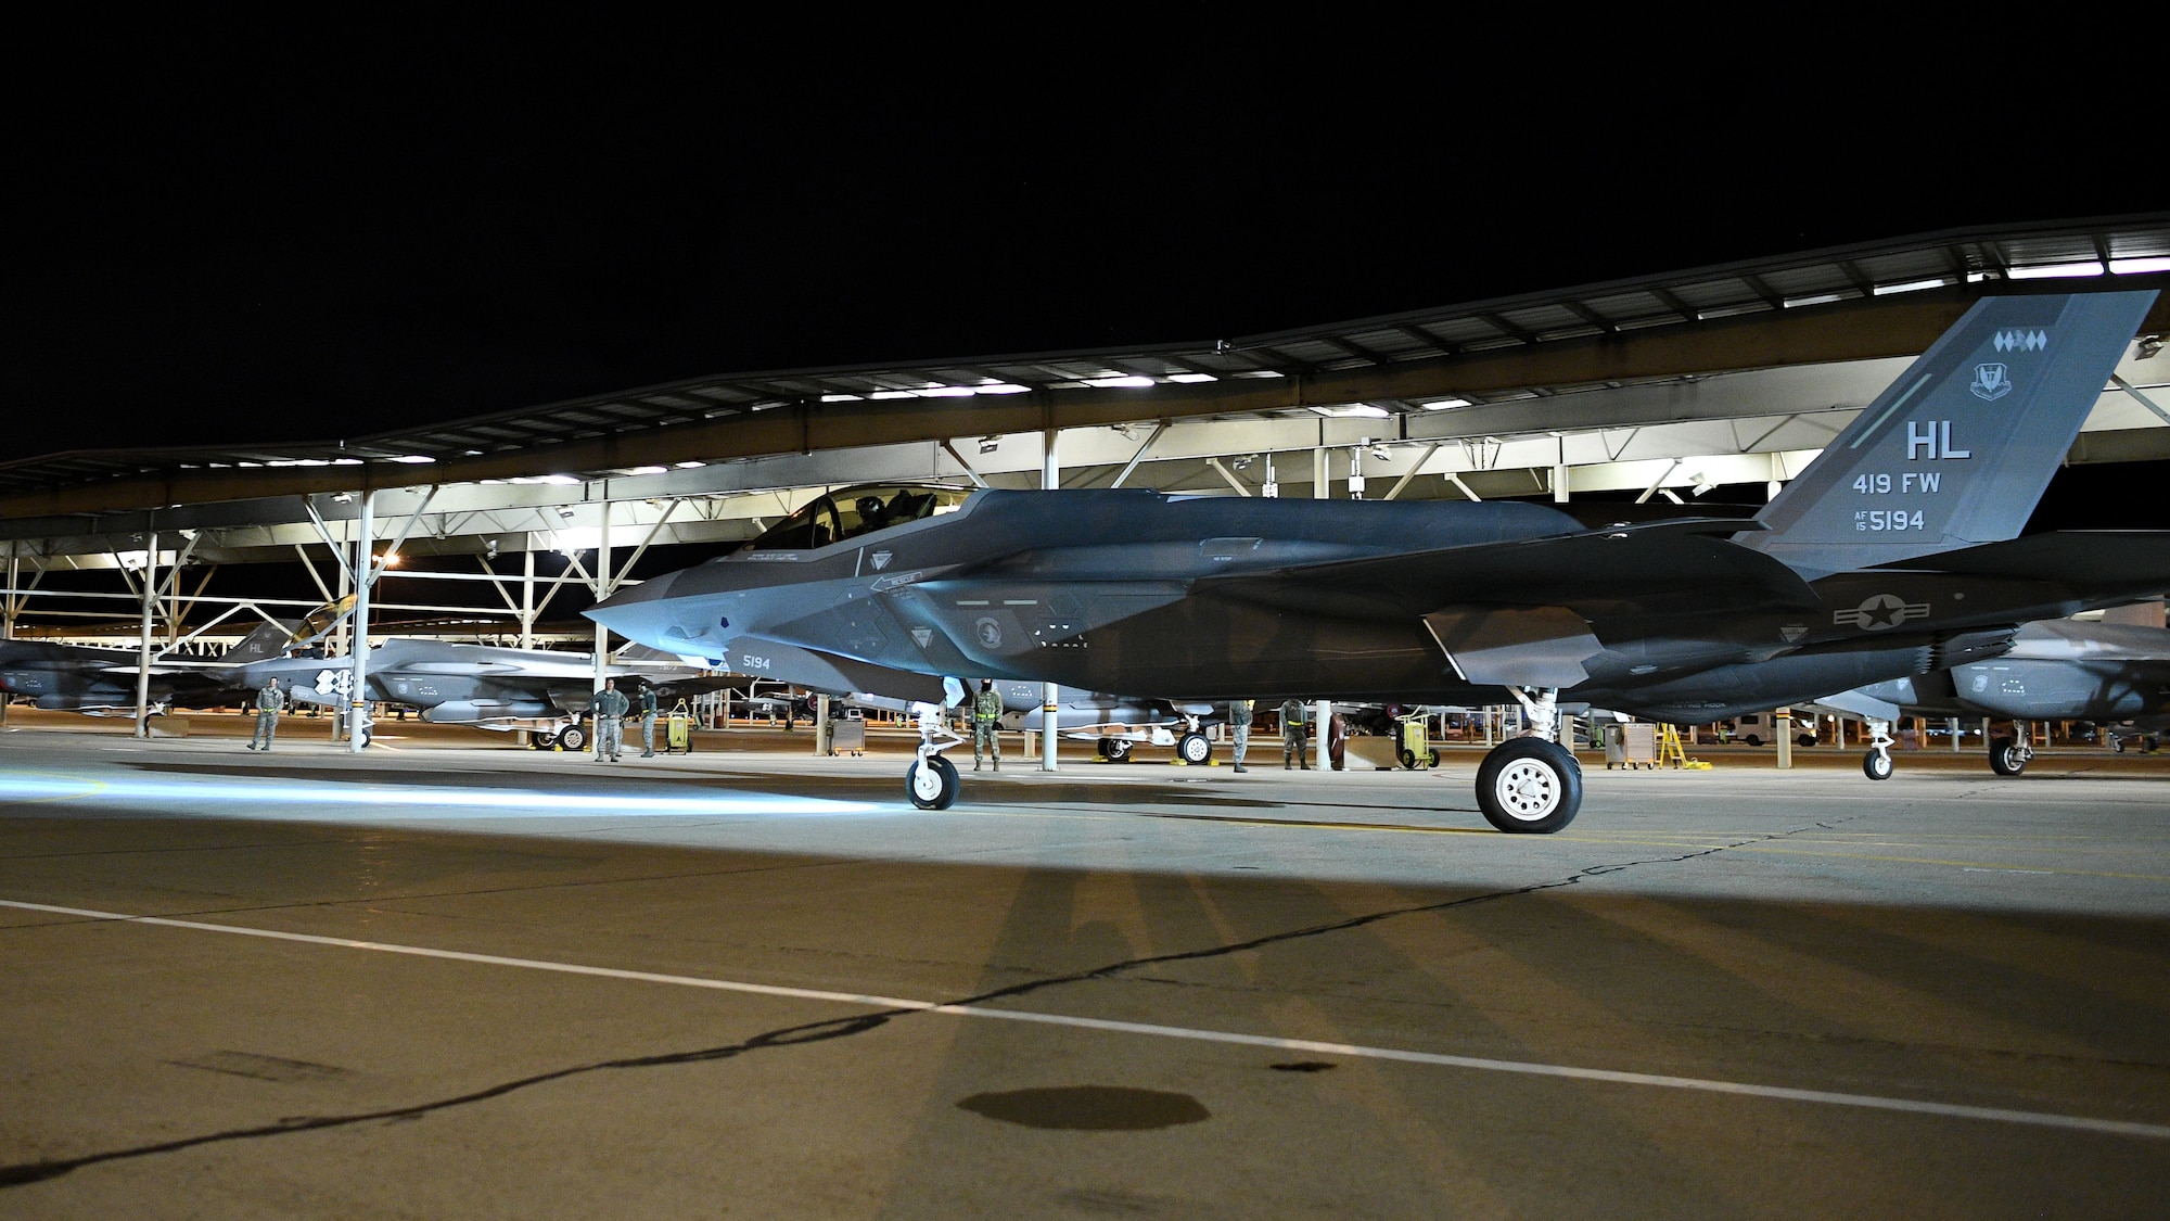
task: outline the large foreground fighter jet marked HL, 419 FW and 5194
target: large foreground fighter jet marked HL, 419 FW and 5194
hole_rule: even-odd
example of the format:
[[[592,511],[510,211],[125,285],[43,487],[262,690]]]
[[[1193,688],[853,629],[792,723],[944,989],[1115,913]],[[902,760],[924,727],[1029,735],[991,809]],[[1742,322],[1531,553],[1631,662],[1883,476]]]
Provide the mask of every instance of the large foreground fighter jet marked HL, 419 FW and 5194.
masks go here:
[[[1747,524],[853,489],[588,615],[920,702],[920,806],[957,795],[937,706],[963,676],[1183,702],[1512,700],[1536,732],[1484,758],[1478,804],[1499,830],[1554,832],[1582,802],[1562,700],[1703,723],[1996,656],[2025,621],[2170,587],[2163,532],[2018,539],[2153,300],[1977,302]],[[855,513],[868,502],[879,521]]]

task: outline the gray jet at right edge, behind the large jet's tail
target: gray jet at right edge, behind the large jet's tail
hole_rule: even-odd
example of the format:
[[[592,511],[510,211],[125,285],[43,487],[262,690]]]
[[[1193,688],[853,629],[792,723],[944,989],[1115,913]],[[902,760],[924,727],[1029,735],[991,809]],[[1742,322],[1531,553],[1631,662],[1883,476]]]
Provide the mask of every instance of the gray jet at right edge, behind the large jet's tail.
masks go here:
[[[2018,776],[2033,758],[2029,721],[2131,721],[2142,734],[2170,728],[2170,630],[2077,619],[2027,624],[1992,660],[1892,678],[1816,704],[1871,723],[1899,715],[2012,721],[2012,734],[1990,739],[1990,771]],[[1868,750],[1862,771],[1871,780],[1890,778],[1890,739]]]

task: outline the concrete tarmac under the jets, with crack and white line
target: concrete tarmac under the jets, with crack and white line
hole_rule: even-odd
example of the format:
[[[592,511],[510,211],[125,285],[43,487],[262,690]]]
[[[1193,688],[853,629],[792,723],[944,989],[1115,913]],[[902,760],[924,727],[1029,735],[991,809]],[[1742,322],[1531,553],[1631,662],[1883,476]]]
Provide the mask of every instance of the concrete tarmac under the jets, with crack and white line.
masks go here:
[[[2170,1197],[2159,758],[1586,756],[1582,817],[1506,836],[1478,752],[966,763],[924,813],[803,730],[599,765],[11,728],[11,1219]]]

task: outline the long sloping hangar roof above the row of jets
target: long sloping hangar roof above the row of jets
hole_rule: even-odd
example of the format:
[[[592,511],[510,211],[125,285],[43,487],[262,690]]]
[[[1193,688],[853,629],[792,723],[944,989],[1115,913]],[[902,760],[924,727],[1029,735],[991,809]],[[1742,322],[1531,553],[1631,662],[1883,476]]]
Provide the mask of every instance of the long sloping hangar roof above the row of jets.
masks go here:
[[[690,378],[312,443],[72,450],[0,465],[0,517],[326,487],[560,476],[1185,415],[1545,398],[1703,372],[1920,352],[1975,295],[2170,285],[2170,213],[1966,228],[1163,348]],[[2044,285],[2046,287],[2046,285]],[[1866,322],[1873,317],[1875,322]],[[2157,304],[2148,328],[2161,330]],[[360,467],[341,478],[315,467]]]

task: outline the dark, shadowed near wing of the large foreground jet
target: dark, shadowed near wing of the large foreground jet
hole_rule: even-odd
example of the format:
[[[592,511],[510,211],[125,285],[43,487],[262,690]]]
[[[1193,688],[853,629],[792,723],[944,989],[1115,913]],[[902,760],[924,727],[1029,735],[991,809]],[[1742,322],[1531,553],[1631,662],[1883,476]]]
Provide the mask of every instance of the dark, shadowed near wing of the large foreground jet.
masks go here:
[[[1814,589],[1771,556],[1727,541],[1738,519],[1619,524],[1506,543],[1410,550],[1358,561],[1209,576],[1196,593],[1309,613],[1428,615],[1443,606],[1567,606],[1599,613],[1669,608],[1814,608]]]

